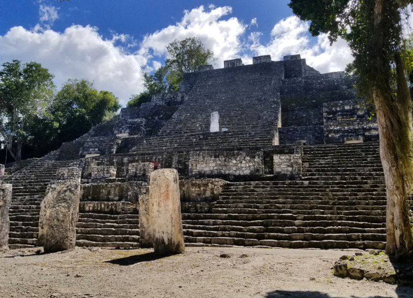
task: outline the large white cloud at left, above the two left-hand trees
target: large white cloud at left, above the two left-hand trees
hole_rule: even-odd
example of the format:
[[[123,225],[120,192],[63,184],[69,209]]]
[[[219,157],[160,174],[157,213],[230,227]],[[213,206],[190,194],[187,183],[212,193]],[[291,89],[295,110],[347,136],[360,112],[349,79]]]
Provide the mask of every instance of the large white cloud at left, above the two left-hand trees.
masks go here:
[[[13,59],[39,62],[55,75],[58,89],[69,78],[86,78],[97,89],[114,92],[124,105],[130,94],[142,90],[141,66],[148,60],[125,53],[115,46],[116,41],[103,39],[90,26],[71,26],[62,33],[13,27],[0,36],[0,63]]]

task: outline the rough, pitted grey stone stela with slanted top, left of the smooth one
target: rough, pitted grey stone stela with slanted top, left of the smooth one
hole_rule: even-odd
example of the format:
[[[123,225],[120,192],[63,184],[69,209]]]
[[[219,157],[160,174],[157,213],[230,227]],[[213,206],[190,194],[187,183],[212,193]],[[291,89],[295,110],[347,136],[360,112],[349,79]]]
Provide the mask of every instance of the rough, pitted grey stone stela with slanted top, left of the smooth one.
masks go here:
[[[80,177],[54,180],[40,206],[38,245],[45,252],[75,248],[79,217]]]

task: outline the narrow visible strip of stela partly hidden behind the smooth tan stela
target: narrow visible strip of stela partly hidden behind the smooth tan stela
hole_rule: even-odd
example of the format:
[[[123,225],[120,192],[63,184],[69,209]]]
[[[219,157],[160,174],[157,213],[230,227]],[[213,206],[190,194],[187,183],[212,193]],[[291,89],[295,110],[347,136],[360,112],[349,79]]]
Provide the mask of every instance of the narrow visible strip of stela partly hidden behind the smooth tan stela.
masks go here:
[[[153,247],[150,235],[148,187],[142,187],[139,196],[139,246],[141,248]]]

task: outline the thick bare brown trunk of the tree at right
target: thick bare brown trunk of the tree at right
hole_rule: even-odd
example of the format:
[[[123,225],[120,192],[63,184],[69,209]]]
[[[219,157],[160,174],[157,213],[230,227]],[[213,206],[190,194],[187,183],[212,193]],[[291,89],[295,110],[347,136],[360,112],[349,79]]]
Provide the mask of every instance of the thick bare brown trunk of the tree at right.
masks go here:
[[[397,92],[390,85],[389,65],[386,60],[385,13],[398,16],[394,6],[384,0],[374,0],[374,29],[372,36],[373,101],[377,111],[380,136],[380,157],[386,184],[386,253],[396,259],[409,257],[413,248],[409,220],[409,195],[413,182],[412,110],[411,98],[403,69],[403,62],[394,50]],[[393,7],[393,8],[390,8]],[[391,11],[387,11],[390,9]],[[387,71],[386,71],[387,70]]]

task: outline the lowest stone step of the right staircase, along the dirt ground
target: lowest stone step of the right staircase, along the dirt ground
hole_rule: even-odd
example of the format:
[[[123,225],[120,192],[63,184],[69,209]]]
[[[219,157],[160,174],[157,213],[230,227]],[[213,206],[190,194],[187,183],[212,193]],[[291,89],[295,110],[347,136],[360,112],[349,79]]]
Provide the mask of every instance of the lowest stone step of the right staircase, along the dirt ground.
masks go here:
[[[384,249],[385,242],[380,241],[337,241],[337,240],[322,240],[322,241],[289,241],[289,240],[257,240],[244,238],[228,238],[228,237],[184,237],[188,243],[205,243],[218,245],[239,245],[239,246],[271,246],[283,248],[360,248],[360,249]]]

